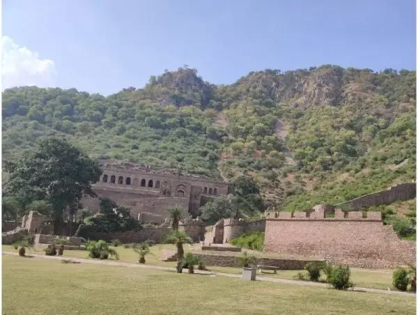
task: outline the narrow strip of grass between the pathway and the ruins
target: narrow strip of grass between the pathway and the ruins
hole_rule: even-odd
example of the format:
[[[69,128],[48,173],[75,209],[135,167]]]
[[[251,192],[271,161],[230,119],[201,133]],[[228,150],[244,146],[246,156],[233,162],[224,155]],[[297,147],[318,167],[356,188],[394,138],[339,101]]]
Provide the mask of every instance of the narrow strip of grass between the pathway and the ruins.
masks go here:
[[[16,249],[11,245],[3,245],[3,251],[8,252],[17,252]],[[122,246],[113,247],[119,254],[119,261],[126,261],[130,263],[138,262],[138,255],[132,249],[126,249]],[[149,265],[157,266],[167,266],[167,267],[176,267],[175,262],[164,262],[160,261],[162,256],[163,249],[176,250],[174,245],[164,244],[164,245],[155,245],[150,247],[151,253],[146,256],[146,263]],[[185,245],[185,252],[192,251],[191,245]],[[31,250],[26,250],[28,254],[45,254],[42,251],[42,248],[36,248]],[[88,259],[88,252],[85,250],[65,250],[64,256],[84,258]],[[241,268],[231,268],[231,267],[217,267],[217,266],[208,266],[208,269],[214,272],[224,272],[224,273],[233,273],[240,274],[242,272]],[[277,270],[277,275],[273,273],[262,273],[258,274],[258,277],[275,277],[280,279],[296,279],[295,276],[300,270]],[[388,287],[392,290],[392,272],[394,270],[367,270],[360,268],[351,268],[351,278],[355,286],[372,288],[372,289],[387,289]]]

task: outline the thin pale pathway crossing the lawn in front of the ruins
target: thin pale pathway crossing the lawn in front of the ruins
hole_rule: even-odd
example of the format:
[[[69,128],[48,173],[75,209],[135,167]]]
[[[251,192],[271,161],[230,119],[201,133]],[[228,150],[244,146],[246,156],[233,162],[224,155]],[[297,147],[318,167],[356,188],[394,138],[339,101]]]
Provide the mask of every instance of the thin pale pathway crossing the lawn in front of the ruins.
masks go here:
[[[16,252],[2,252],[3,255],[15,255],[18,254]],[[164,266],[155,266],[155,265],[145,265],[140,263],[123,263],[121,261],[106,261],[106,260],[95,260],[95,259],[82,259],[82,258],[72,258],[68,256],[46,256],[40,254],[31,254],[30,256],[40,258],[40,259],[55,259],[55,260],[71,260],[77,261],[80,263],[96,263],[100,265],[107,265],[107,266],[123,266],[123,267],[134,267],[134,268],[148,268],[148,269],[157,269],[157,270],[169,270],[169,271],[176,271],[176,268],[171,267],[164,267]],[[202,271],[202,270],[194,270],[195,273],[203,274],[203,275],[216,275],[221,277],[231,277],[231,278],[240,278],[241,275],[234,275],[232,273],[223,273],[223,272],[210,272],[210,271]],[[327,284],[323,284],[320,282],[308,282],[308,281],[298,281],[298,280],[290,280],[290,279],[279,279],[279,278],[270,278],[270,277],[260,277],[257,275],[256,278],[258,281],[265,281],[265,282],[277,282],[281,284],[295,284],[300,286],[320,286],[322,288],[329,287]],[[383,294],[394,294],[394,295],[403,295],[403,296],[411,296],[415,297],[415,293],[409,292],[402,292],[402,291],[389,291],[389,290],[380,290],[380,289],[370,289],[370,288],[360,288],[355,287],[353,291],[359,292],[373,292],[373,293],[383,293]]]

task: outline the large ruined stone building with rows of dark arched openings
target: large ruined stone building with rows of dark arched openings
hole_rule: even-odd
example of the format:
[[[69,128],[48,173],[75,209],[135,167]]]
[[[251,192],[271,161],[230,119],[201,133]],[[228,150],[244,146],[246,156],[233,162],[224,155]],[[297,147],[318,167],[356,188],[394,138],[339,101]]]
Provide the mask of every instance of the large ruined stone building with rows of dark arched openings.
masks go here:
[[[144,223],[164,221],[167,208],[175,205],[196,217],[207,201],[229,194],[228,183],[203,176],[132,163],[100,162],[103,174],[92,185],[95,193],[99,198],[107,197],[121,206],[130,207],[132,217]],[[99,198],[84,198],[84,208],[98,212]]]

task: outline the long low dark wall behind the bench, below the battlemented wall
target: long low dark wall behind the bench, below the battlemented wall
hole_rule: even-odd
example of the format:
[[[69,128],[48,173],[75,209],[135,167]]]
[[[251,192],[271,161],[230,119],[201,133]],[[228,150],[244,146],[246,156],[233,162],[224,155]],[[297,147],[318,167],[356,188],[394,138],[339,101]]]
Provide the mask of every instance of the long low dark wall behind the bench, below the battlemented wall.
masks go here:
[[[238,256],[228,256],[220,254],[194,254],[200,256],[206,266],[221,266],[221,267],[240,267],[238,264]],[[305,260],[305,259],[270,259],[261,258],[256,260],[257,265],[263,266],[275,266],[281,270],[300,270],[311,261],[323,261],[318,260]]]

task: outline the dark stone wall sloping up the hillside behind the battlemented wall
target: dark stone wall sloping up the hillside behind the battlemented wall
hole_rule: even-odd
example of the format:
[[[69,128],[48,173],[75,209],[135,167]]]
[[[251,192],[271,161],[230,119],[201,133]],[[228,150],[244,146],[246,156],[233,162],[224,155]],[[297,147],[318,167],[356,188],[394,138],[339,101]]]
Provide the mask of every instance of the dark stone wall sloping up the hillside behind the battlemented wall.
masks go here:
[[[373,192],[373,194],[366,194],[362,197],[358,197],[344,203],[339,203],[336,206],[339,208],[348,207],[352,208],[353,210],[360,210],[361,208],[365,207],[414,199],[416,194],[417,183],[406,183],[391,187],[389,190],[382,190],[380,192]]]

